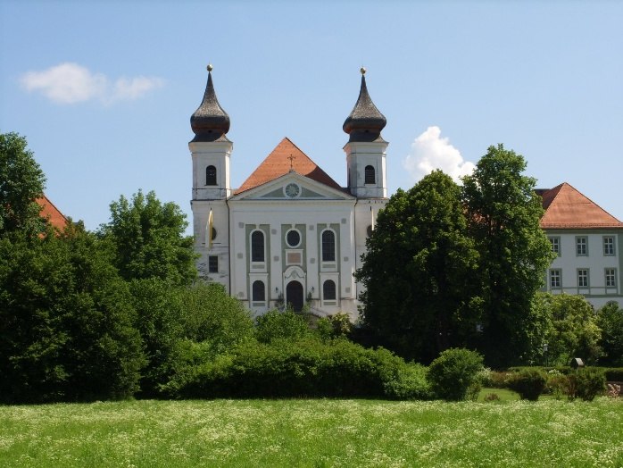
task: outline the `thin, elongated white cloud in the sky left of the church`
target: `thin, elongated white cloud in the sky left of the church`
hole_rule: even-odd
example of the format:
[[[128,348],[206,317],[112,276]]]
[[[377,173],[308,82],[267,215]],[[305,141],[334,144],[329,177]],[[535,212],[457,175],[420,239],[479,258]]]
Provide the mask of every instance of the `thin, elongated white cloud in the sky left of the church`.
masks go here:
[[[76,104],[96,100],[112,104],[133,100],[155,88],[161,88],[160,78],[120,78],[114,83],[102,73],[94,73],[78,63],[61,63],[44,71],[29,71],[21,76],[21,85],[38,91],[58,104]]]

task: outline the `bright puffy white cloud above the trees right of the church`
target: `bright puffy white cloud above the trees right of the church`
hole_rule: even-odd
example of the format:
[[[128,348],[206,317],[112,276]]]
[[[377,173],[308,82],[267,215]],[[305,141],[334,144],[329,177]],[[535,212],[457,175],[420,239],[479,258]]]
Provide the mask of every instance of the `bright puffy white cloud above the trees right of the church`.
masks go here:
[[[464,175],[474,171],[475,165],[463,160],[461,152],[448,138],[441,138],[441,129],[433,126],[419,135],[411,144],[411,153],[403,161],[413,180],[420,180],[436,169],[441,169],[459,182]]]

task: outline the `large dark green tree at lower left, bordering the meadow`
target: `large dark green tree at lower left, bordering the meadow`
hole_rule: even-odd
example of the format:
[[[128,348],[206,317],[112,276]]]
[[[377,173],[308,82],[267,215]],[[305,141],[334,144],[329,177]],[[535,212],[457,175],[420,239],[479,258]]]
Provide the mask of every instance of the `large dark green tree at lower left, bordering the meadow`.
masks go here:
[[[0,396],[5,402],[130,397],[145,363],[127,284],[73,224],[0,239]]]

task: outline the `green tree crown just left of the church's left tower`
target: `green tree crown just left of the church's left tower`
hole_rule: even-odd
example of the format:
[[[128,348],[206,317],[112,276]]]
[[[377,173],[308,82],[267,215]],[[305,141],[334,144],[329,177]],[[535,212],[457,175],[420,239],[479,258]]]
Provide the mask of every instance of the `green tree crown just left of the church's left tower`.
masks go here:
[[[175,285],[196,277],[193,238],[184,236],[186,214],[172,202],[162,204],[141,190],[111,204],[111,221],[100,235],[114,251],[114,264],[125,280],[160,278]]]

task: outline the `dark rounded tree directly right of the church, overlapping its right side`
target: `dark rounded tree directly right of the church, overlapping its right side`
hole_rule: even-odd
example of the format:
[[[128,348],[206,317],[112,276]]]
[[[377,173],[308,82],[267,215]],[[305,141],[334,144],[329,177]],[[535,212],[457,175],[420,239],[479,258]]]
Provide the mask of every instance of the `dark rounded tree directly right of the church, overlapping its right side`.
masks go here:
[[[380,344],[430,362],[469,340],[478,255],[461,188],[449,176],[434,171],[409,191],[399,189],[378,213],[362,261],[362,321]]]

